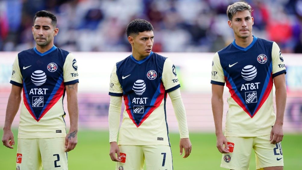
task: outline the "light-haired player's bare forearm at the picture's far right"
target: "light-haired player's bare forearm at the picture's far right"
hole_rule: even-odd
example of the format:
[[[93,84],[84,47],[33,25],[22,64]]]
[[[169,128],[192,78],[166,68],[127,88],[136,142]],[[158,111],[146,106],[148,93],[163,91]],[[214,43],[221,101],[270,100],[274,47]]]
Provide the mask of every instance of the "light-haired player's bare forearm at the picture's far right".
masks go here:
[[[276,121],[275,124],[283,125],[285,104],[286,104],[286,86],[276,88]]]

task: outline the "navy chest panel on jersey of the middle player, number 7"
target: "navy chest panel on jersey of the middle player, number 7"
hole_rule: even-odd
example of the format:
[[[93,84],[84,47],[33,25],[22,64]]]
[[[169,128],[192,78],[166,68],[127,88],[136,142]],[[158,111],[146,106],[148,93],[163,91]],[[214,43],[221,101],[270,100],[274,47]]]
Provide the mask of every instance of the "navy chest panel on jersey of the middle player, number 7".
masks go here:
[[[162,71],[165,59],[153,53],[143,63],[137,63],[129,56],[116,65],[127,112],[131,112],[137,126],[150,114],[159,96],[164,96]]]

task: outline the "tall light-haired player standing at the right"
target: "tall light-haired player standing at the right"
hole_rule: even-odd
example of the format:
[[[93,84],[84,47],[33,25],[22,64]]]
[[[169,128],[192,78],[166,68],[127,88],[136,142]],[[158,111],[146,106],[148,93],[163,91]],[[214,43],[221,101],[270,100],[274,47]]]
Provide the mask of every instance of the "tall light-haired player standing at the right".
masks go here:
[[[212,62],[212,109],[217,148],[223,153],[223,168],[249,169],[253,149],[256,169],[281,170],[286,70],[278,45],[252,35],[254,18],[251,12],[251,6],[245,2],[228,6],[228,24],[235,40],[218,51]],[[230,97],[223,135],[225,83]],[[273,84],[276,88],[276,114]]]

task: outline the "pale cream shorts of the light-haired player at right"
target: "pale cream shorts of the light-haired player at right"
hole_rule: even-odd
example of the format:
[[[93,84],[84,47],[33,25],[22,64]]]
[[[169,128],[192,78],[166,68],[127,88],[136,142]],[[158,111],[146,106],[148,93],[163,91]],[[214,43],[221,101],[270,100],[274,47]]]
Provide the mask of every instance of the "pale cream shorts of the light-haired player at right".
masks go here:
[[[233,152],[222,155],[221,167],[248,170],[252,149],[256,156],[256,169],[283,166],[281,143],[271,144],[270,135],[259,137],[226,137],[233,143]],[[230,147],[230,146],[229,146]]]

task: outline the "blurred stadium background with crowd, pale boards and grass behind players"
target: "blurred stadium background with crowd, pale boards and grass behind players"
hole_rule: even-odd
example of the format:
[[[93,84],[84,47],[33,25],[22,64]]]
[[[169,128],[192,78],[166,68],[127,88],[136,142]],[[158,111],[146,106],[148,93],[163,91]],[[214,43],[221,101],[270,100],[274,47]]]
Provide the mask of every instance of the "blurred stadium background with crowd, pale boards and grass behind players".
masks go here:
[[[135,19],[154,27],[153,51],[174,62],[187,110],[193,153],[178,153],[178,126],[170,100],[167,104],[174,169],[222,169],[216,149],[210,105],[211,61],[231,43],[226,7],[233,0],[0,0],[0,126],[10,93],[11,68],[18,52],[35,46],[33,17],[49,10],[58,19],[55,45],[73,52],[79,71],[79,143],[69,153],[69,168],[113,169],[108,144],[108,83],[115,62],[131,54],[125,29]],[[253,35],[278,43],[287,66],[288,99],[284,115],[284,169],[302,169],[302,0],[250,0],[255,18]],[[224,97],[228,97],[225,88]],[[224,114],[227,111],[224,100]],[[66,101],[65,101],[66,108]],[[67,109],[65,109],[67,112]],[[66,116],[69,124],[68,115]],[[225,116],[223,118],[225,121]],[[17,138],[19,112],[14,119]],[[2,136],[2,131],[0,132]],[[0,169],[14,169],[14,150],[0,147]],[[255,169],[252,156],[251,169]]]

